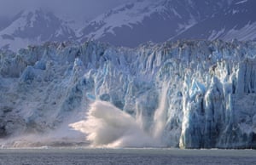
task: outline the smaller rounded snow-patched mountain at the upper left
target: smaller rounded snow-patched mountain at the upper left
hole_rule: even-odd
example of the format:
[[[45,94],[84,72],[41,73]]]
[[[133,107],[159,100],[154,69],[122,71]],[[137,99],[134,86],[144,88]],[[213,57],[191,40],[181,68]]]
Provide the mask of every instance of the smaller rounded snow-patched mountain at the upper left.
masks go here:
[[[75,39],[65,20],[43,9],[28,9],[16,14],[0,31],[0,47],[17,50],[30,44]]]

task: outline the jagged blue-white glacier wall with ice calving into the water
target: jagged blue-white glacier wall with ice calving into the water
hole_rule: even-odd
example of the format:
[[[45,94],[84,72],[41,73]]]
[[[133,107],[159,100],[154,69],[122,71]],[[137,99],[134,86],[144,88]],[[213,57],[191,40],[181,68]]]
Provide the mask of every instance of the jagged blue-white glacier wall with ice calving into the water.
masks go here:
[[[0,52],[0,147],[256,148],[256,43]]]

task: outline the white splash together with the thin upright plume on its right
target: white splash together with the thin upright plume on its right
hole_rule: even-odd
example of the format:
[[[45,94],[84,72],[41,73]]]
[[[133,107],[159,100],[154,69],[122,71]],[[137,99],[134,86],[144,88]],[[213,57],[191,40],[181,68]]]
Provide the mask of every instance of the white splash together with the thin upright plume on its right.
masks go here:
[[[160,105],[154,112],[154,124],[150,133],[144,131],[138,118],[133,118],[114,105],[100,100],[90,105],[86,120],[70,124],[70,127],[86,134],[93,147],[162,146],[168,87],[168,83],[163,83]]]

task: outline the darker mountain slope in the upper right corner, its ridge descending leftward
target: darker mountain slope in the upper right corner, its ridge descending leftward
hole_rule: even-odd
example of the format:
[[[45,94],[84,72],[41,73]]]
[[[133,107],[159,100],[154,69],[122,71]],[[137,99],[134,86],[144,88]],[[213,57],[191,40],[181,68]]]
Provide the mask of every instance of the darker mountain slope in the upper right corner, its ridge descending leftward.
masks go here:
[[[231,41],[254,40],[256,38],[256,18],[254,15],[256,2],[253,0],[233,1],[220,12],[212,14],[206,20],[201,20],[195,26],[184,31],[175,39],[223,39]]]

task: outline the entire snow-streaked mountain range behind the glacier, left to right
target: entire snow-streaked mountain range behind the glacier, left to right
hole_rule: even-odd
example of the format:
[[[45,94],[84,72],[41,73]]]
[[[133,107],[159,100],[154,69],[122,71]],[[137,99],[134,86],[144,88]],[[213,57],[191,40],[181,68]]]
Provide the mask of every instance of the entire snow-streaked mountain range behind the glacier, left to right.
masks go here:
[[[44,9],[27,9],[10,20],[0,18],[0,47],[17,50],[48,41],[137,47],[178,39],[253,40],[255,8],[254,0],[131,0],[79,24]]]

